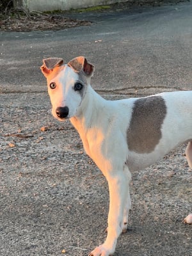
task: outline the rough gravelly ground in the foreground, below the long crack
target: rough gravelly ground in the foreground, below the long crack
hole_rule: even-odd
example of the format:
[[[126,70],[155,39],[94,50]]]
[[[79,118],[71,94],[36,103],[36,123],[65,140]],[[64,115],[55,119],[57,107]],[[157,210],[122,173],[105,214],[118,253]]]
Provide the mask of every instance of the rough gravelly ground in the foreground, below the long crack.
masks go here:
[[[87,255],[106,236],[107,182],[50,108],[47,93],[1,95],[2,255]],[[133,173],[129,230],[115,255],[191,255],[192,226],[182,223],[191,183],[184,147]]]

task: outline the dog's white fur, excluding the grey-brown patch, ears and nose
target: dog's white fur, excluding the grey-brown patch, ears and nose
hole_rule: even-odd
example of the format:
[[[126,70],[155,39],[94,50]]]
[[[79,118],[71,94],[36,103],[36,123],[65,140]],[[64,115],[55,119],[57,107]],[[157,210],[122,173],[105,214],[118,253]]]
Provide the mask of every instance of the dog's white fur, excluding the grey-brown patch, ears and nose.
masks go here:
[[[79,132],[84,150],[108,180],[108,236],[104,244],[90,253],[93,256],[108,256],[115,252],[118,236],[127,228],[128,212],[131,207],[129,170],[143,169],[181,143],[192,139],[192,92],[159,94],[166,104],[161,140],[149,154],[138,154],[130,151],[127,145],[127,129],[136,99],[105,100],[90,86],[90,77],[87,77],[88,85],[82,99],[73,89],[78,79],[78,73],[67,65],[62,67],[56,76],[51,79],[47,77],[48,86],[51,82],[57,84],[56,89],[49,88],[52,115],[57,118],[56,108],[68,107],[68,118]],[[191,143],[186,154],[191,166]]]

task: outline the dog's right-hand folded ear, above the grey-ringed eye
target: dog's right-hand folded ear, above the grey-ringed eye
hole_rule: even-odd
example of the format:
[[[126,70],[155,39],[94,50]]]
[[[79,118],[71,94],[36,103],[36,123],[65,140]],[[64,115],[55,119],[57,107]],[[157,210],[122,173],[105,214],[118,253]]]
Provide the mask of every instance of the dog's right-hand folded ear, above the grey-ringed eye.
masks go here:
[[[73,60],[69,61],[67,65],[77,73],[79,73],[81,70],[86,74],[86,76],[93,76],[93,72],[95,70],[94,66],[86,60],[83,56],[79,56],[77,58],[74,58]]]

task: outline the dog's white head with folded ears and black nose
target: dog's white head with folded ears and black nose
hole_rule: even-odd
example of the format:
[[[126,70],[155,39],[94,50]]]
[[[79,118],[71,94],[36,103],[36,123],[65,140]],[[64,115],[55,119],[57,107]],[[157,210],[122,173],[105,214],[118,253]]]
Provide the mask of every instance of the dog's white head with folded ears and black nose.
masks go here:
[[[72,118],[84,99],[94,66],[80,56],[63,64],[61,58],[43,60],[42,73],[47,78],[52,115],[59,120]]]

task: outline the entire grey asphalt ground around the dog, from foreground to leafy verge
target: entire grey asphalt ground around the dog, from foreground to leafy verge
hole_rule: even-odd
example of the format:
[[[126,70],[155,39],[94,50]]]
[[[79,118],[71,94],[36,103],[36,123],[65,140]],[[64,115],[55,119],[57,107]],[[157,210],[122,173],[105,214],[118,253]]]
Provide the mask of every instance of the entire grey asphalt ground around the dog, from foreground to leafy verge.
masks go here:
[[[52,118],[43,58],[86,56],[93,88],[110,99],[192,88],[192,3],[68,15],[93,24],[0,32],[2,256],[85,256],[106,236],[106,180],[70,123]],[[183,153],[179,147],[133,174],[129,232],[116,256],[191,255],[182,219],[192,177]]]

